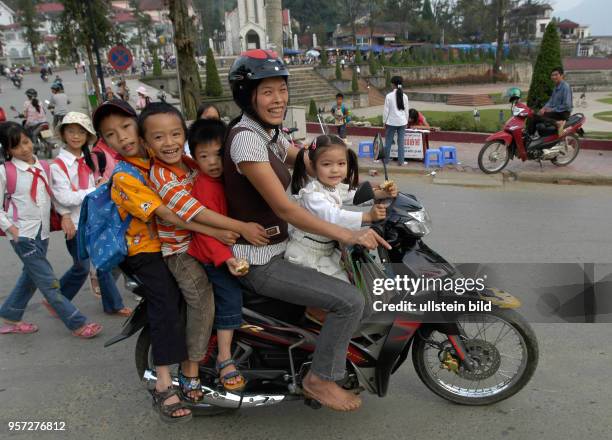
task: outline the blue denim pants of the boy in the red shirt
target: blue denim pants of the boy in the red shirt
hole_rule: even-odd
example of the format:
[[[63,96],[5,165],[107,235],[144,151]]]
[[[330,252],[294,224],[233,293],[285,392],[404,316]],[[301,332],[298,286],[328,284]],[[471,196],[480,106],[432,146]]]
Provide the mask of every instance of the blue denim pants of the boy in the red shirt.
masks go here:
[[[203,264],[208,281],[215,293],[215,328],[229,330],[240,328],[242,324],[242,286],[227,266],[215,267],[214,264]]]

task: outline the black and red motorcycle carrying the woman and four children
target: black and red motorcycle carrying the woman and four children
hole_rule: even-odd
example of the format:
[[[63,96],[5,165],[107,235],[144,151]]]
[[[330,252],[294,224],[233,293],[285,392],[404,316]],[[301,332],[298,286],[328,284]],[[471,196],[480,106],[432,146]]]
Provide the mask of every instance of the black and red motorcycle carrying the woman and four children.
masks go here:
[[[355,194],[354,203],[374,198],[369,183]],[[352,282],[372,307],[372,282],[403,272],[412,277],[454,279],[462,274],[423,242],[431,220],[417,198],[400,193],[387,207],[386,220],[374,225],[392,249],[372,254],[360,246],[345,250]],[[134,292],[139,293],[138,280]],[[443,292],[424,292],[421,300],[440,299]],[[459,298],[457,295],[453,295]],[[241,408],[278,405],[303,399],[307,406],[320,403],[304,397],[302,380],[310,369],[321,324],[305,316],[304,308],[244,292],[243,325],[234,333],[233,358],[247,380],[241,392],[230,392],[218,381],[215,369],[217,340],[213,334],[200,361],[203,400],[192,404],[196,415],[212,415]],[[419,297],[419,295],[417,295]],[[490,304],[491,311],[459,313],[377,311],[364,320],[347,350],[347,374],[338,384],[355,393],[367,391],[384,397],[391,375],[412,350],[412,364],[427,388],[451,402],[488,405],[521,390],[538,363],[538,343],[524,318],[515,310],[520,302],[496,289],[466,292],[462,301]],[[398,304],[406,296],[394,297]],[[413,297],[411,297],[413,298]],[[142,300],[125,322],[120,334],[105,347],[139,333],[135,348],[138,376],[153,389],[156,374],[151,335]],[[376,310],[376,309],[375,309]],[[178,386],[176,372],[173,382]]]

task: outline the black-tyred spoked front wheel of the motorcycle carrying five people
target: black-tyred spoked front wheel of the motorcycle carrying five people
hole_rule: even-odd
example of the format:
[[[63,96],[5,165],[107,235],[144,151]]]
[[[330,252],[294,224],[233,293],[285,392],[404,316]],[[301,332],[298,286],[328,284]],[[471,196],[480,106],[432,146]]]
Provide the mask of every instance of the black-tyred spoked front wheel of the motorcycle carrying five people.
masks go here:
[[[476,368],[469,371],[460,361],[449,362],[440,349],[450,347],[447,335],[424,328],[414,341],[412,363],[427,388],[451,402],[476,406],[507,399],[529,382],[539,350],[531,326],[521,315],[494,309],[459,315],[457,322]]]

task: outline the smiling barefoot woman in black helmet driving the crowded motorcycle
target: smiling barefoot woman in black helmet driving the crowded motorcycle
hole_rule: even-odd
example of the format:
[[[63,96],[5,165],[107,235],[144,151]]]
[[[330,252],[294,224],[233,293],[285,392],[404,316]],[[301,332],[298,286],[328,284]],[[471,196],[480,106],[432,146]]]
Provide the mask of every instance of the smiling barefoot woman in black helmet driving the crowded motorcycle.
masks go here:
[[[350,231],[321,220],[288,198],[288,166],[298,152],[279,136],[289,99],[288,76],[276,53],[260,49],[244,52],[229,72],[234,101],[242,110],[225,144],[229,216],[263,225],[270,239],[258,247],[239,240],[233,252],[251,264],[249,273],[240,278],[248,289],[328,310],[302,386],[307,397],[335,410],[352,411],[361,399],[335,381],[344,378],[349,340],[370,311],[364,310],[364,298],[355,286],[283,259],[287,224],[370,249],[386,242],[370,229]]]

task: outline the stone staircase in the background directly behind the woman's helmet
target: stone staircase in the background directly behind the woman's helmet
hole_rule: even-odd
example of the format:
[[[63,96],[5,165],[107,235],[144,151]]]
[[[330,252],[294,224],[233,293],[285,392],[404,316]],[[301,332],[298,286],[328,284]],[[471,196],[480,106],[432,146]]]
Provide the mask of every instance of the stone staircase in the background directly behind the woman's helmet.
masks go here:
[[[227,79],[229,67],[219,68],[223,94],[231,95]],[[206,83],[206,72],[200,71],[202,85]],[[289,103],[308,108],[311,99],[319,107],[329,107],[336,99],[338,90],[314,71],[312,67],[289,67]]]

